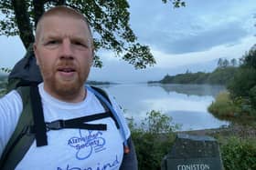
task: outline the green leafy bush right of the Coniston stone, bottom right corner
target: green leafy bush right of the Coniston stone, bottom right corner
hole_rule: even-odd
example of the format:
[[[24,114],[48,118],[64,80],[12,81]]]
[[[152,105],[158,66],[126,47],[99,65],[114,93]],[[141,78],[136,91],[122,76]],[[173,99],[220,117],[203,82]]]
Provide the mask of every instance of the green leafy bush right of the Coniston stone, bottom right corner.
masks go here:
[[[222,161],[226,170],[256,169],[256,140],[230,137],[220,145]]]

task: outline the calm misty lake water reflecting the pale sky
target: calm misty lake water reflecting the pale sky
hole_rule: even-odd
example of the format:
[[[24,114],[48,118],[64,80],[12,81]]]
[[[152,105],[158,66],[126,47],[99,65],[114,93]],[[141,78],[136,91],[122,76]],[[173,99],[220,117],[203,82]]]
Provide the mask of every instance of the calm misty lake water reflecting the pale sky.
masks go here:
[[[181,125],[180,130],[217,128],[228,125],[208,113],[208,105],[225,87],[220,85],[101,85],[139,124],[151,110],[161,111]]]

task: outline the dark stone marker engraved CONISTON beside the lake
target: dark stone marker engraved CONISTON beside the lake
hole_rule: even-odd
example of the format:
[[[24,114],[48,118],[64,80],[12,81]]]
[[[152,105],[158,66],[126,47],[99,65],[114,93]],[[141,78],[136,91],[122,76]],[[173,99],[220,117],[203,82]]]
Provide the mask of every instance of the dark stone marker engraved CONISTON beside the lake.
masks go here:
[[[223,170],[219,145],[213,137],[177,134],[161,170]]]

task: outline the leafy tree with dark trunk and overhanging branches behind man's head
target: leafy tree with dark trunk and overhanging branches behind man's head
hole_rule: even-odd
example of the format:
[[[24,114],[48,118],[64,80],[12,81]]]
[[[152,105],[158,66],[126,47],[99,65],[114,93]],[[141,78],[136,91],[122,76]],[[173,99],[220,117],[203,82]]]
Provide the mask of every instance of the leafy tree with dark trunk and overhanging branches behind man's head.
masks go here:
[[[167,0],[162,1],[167,3]],[[175,7],[185,6],[180,0],[172,3]],[[129,25],[126,0],[2,0],[0,10],[5,17],[0,20],[0,35],[19,35],[27,48],[35,40],[33,32],[39,17],[55,5],[68,5],[88,18],[95,37],[95,51],[101,48],[112,50],[135,68],[155,64],[149,46],[136,42],[137,37]],[[101,65],[100,56],[96,55],[94,66]]]

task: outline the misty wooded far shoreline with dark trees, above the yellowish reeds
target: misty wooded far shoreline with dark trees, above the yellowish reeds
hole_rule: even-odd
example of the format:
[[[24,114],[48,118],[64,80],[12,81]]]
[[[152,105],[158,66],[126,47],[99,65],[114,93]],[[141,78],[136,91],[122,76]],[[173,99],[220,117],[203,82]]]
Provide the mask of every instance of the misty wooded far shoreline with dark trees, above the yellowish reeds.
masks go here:
[[[230,102],[244,113],[256,115],[256,45],[239,60],[219,58],[218,67],[212,73],[191,73],[165,75],[162,84],[210,84],[226,85]]]

